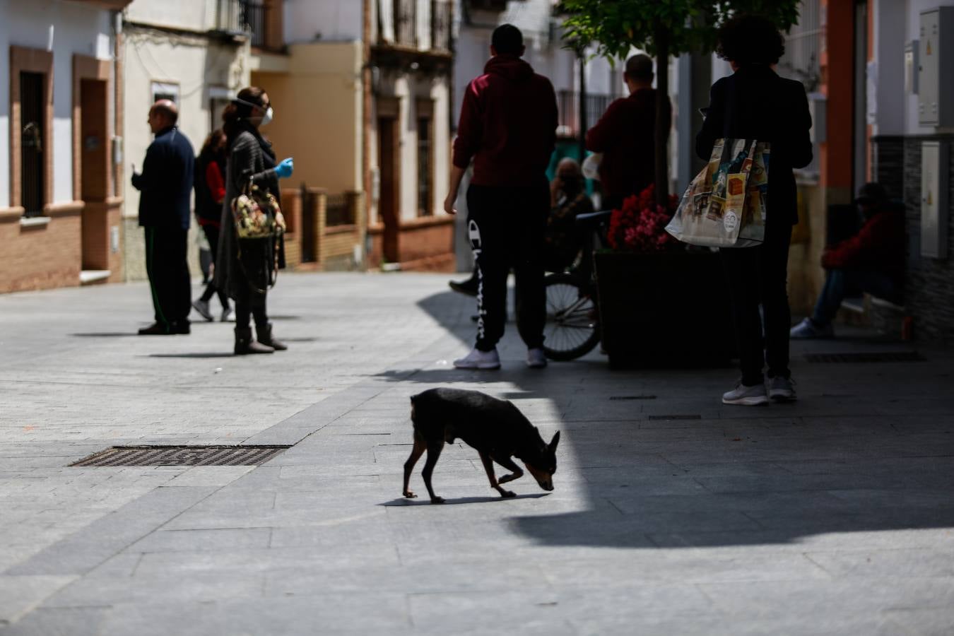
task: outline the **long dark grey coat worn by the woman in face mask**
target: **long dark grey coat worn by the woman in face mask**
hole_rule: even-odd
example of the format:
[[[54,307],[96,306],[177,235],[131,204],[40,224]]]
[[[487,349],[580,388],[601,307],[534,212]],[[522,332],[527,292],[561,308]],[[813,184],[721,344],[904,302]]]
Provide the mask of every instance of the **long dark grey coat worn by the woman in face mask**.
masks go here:
[[[275,274],[276,261],[279,268],[285,266],[283,237],[243,240],[239,249],[239,236],[236,235],[232,219],[232,200],[242,194],[250,177],[256,185],[267,188],[280,202],[275,166],[272,145],[262,139],[253,126],[245,124],[245,130],[229,143],[229,158],[225,166],[225,199],[222,201],[221,233],[216,255],[216,287],[233,298],[244,296],[246,290],[253,293],[267,291]]]

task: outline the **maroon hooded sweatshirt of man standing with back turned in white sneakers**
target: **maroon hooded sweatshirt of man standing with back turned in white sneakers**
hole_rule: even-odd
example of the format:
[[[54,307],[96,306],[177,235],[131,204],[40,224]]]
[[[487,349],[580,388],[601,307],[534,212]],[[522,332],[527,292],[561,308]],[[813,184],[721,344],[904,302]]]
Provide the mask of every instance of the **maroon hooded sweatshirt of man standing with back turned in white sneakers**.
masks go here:
[[[556,143],[556,93],[516,55],[495,55],[467,85],[454,165],[481,186],[530,186],[546,178]]]

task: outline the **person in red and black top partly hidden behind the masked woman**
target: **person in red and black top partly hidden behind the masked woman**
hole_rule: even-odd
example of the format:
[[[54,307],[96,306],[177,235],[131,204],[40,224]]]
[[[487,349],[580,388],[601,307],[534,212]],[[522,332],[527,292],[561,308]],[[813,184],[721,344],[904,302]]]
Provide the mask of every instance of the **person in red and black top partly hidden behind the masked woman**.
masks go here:
[[[198,224],[209,240],[209,250],[212,252],[213,266],[218,252],[218,233],[221,229],[222,201],[225,199],[225,133],[220,129],[213,131],[202,144],[202,150],[196,158],[196,217]],[[212,319],[209,309],[209,300],[218,294],[218,301],[222,304],[222,321],[232,314],[229,306],[229,297],[216,288],[215,282],[210,281],[205,287],[202,296],[193,300],[192,306],[202,318]]]

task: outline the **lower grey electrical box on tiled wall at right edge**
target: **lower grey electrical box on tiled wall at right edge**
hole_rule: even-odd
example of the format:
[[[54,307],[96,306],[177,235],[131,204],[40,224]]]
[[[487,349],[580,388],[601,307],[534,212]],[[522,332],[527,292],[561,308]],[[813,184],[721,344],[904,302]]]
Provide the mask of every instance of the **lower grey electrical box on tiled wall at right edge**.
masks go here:
[[[947,179],[944,141],[921,142],[921,256],[947,257]]]

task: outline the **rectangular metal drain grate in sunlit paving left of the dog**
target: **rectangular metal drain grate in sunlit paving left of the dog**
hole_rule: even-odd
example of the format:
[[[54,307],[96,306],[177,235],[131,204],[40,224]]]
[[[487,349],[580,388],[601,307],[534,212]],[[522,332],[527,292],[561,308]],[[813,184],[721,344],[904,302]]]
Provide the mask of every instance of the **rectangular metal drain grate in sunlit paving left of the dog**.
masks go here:
[[[113,446],[71,466],[255,466],[290,446]]]

